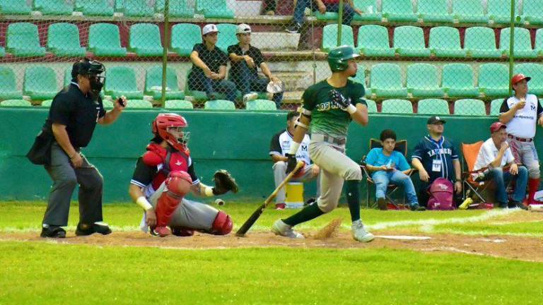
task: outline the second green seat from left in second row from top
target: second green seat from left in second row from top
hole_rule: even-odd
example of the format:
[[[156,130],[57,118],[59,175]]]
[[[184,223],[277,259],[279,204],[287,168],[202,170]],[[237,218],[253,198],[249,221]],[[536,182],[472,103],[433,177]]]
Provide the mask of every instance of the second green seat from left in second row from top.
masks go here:
[[[47,30],[47,49],[57,56],[85,56],[79,42],[79,28],[71,23],[53,23]]]

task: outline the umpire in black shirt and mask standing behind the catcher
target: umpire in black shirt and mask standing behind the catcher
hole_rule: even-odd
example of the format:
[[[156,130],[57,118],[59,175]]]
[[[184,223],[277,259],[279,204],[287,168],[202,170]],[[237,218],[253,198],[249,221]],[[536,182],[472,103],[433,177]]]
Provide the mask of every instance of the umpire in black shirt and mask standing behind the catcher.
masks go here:
[[[71,83],[54,97],[44,130],[54,136],[51,157],[45,165],[53,180],[47,210],[43,217],[41,237],[64,238],[68,225],[70,199],[79,184],[79,223],[76,235],[95,232],[110,234],[102,221],[103,178],[80,149],[91,141],[98,124],[111,124],[126,106],[119,98],[115,107],[105,112],[100,90],[105,80],[103,64],[84,58],[71,69]]]

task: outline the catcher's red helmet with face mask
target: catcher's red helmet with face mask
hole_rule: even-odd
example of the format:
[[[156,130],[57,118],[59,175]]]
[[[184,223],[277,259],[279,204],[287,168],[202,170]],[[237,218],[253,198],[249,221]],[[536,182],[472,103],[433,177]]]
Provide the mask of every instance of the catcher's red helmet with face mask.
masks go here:
[[[190,133],[184,131],[189,124],[179,114],[158,114],[153,121],[151,129],[153,134],[172,145],[176,150],[186,150]]]

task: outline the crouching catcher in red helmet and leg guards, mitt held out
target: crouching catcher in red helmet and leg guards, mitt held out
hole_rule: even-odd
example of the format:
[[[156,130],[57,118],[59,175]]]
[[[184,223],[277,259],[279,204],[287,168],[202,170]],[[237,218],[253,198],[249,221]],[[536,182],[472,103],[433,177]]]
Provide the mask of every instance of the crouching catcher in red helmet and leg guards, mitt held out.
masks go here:
[[[228,234],[232,230],[229,215],[184,198],[191,191],[209,197],[238,192],[235,180],[223,169],[215,173],[214,187],[199,181],[187,148],[187,126],[179,114],[158,114],[152,123],[154,138],[136,162],[129,186],[130,197],[144,209],[141,229],[147,232],[150,227],[151,235],[159,237],[192,236],[195,230]]]

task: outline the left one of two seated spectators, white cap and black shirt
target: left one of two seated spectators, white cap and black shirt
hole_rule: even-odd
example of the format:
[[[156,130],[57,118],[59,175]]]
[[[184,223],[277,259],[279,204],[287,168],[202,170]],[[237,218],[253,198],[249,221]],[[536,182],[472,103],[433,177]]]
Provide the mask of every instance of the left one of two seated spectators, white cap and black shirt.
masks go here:
[[[205,91],[210,100],[216,100],[216,92],[226,95],[226,100],[235,101],[235,84],[226,77],[228,56],[216,47],[218,29],[214,24],[205,25],[202,29],[204,43],[194,44],[190,61],[192,71],[189,73],[189,90]]]

